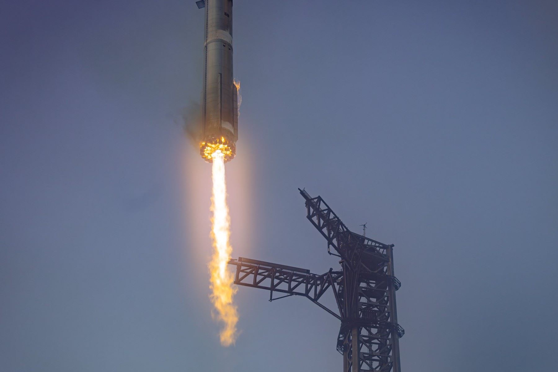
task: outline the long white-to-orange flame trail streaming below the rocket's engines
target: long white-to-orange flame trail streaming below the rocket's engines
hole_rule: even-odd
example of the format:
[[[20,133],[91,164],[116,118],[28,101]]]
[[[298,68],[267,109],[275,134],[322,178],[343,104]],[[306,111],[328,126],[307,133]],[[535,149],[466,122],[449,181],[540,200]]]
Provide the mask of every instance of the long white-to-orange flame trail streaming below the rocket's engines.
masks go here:
[[[211,238],[215,252],[209,263],[211,274],[211,302],[217,310],[215,316],[224,322],[220,333],[221,345],[230,346],[234,344],[237,337],[237,308],[233,305],[234,277],[227,265],[230,259],[232,247],[229,244],[230,218],[227,206],[227,185],[225,184],[224,155],[220,150],[215,151],[212,156],[213,167],[211,178],[213,180],[213,196],[211,197],[211,211],[213,218],[211,222]]]

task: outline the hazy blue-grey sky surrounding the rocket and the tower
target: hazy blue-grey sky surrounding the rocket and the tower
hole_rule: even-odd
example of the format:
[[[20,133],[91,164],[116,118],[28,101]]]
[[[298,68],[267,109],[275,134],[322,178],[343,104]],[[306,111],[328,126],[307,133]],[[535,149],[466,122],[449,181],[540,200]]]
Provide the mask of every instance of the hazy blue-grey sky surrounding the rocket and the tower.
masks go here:
[[[339,268],[297,187],[395,244],[402,371],[558,365],[558,2],[234,2],[233,257]],[[340,371],[240,287],[219,344],[194,0],[3,1],[0,371]]]

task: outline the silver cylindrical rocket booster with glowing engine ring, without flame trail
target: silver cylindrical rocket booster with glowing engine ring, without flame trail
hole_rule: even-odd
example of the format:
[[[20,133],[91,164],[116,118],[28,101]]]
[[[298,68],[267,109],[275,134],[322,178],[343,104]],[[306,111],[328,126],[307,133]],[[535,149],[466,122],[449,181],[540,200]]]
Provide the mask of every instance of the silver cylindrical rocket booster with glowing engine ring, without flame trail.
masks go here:
[[[211,162],[212,154],[221,151],[227,162],[234,158],[238,139],[238,89],[233,81],[233,1],[204,0],[196,5],[205,8],[200,154]]]

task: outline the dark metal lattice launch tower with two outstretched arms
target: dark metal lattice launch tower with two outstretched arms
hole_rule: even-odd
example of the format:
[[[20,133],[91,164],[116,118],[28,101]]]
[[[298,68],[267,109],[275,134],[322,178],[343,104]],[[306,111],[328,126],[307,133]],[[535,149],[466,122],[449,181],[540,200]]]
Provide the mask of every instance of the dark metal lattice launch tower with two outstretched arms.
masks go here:
[[[328,252],[340,258],[341,270],[324,274],[259,260],[238,258],[234,283],[267,289],[270,301],[304,296],[341,321],[337,350],[343,354],[343,372],[401,372],[395,291],[401,282],[393,273],[393,244],[353,233],[320,197],[305,190],[307,219],[328,241]],[[331,252],[331,247],[336,253]],[[328,289],[337,312],[320,303]],[[273,292],[279,297],[273,297]]]

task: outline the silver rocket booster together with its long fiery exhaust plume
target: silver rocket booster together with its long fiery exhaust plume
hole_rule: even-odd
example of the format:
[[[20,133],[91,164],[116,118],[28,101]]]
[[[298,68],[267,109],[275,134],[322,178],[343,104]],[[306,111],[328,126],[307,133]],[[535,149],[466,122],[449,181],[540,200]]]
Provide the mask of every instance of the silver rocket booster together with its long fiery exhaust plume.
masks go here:
[[[204,83],[202,96],[203,141],[200,154],[213,163],[211,178],[211,239],[213,257],[209,263],[211,302],[215,317],[224,323],[220,332],[223,346],[234,344],[237,336],[237,308],[233,304],[234,276],[227,264],[232,248],[229,243],[230,218],[225,185],[225,162],[234,158],[238,139],[238,88],[233,79],[233,2],[205,0]]]

